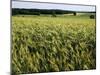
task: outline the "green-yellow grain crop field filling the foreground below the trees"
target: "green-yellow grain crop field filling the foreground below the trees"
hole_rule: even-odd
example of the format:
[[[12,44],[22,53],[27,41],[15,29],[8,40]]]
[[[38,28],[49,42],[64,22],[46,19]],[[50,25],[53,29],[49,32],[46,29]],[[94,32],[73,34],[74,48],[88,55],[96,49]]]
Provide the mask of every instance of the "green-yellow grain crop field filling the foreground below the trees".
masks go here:
[[[95,69],[95,19],[12,16],[11,52],[13,74]]]

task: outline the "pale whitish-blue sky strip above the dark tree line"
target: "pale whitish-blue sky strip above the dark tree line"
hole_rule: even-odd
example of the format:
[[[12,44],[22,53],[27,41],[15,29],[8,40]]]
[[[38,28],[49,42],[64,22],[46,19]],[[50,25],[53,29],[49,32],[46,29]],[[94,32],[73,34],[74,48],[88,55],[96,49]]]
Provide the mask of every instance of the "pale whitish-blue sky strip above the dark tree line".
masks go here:
[[[52,3],[39,3],[39,2],[37,3],[37,2],[28,2],[28,1],[12,1],[12,8],[95,11],[95,6],[71,5],[71,4],[52,4]]]

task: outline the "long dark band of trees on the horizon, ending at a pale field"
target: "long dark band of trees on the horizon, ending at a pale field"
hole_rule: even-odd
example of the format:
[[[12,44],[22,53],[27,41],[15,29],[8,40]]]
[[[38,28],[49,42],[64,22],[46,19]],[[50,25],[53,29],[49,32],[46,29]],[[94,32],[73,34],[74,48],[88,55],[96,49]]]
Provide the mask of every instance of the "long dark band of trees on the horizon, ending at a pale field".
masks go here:
[[[58,10],[58,9],[12,9],[12,15],[40,15],[40,14],[51,14],[52,16],[58,15],[58,14],[73,14],[76,15],[75,11],[66,11],[66,10]]]

